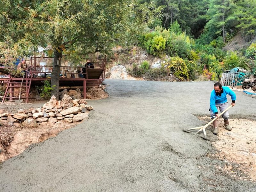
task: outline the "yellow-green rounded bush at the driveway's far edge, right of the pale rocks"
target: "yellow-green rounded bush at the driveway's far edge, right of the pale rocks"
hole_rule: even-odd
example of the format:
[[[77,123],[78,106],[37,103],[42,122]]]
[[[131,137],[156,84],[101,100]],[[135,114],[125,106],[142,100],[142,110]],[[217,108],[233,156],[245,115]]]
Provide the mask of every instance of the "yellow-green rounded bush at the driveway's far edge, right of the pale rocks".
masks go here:
[[[174,75],[181,79],[189,79],[188,76],[188,68],[185,61],[180,57],[171,57],[171,59],[167,62],[167,68],[169,68]]]

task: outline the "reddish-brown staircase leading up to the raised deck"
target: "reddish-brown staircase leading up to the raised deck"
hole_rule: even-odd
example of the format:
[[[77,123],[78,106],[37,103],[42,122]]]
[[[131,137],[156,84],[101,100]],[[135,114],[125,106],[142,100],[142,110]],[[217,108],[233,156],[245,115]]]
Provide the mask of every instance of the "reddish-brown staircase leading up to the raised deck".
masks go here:
[[[31,78],[25,77],[22,82],[22,78],[14,78],[11,77],[8,81],[6,91],[4,93],[4,98],[2,100],[2,103],[4,102],[5,99],[8,99],[10,101],[14,101],[14,99],[19,99],[19,94],[20,94],[20,85],[21,85],[21,90],[24,90],[22,88],[25,88],[26,91],[21,91],[22,93],[26,93],[25,96],[21,96],[20,99],[26,99],[26,103],[28,102],[28,94],[31,86]]]

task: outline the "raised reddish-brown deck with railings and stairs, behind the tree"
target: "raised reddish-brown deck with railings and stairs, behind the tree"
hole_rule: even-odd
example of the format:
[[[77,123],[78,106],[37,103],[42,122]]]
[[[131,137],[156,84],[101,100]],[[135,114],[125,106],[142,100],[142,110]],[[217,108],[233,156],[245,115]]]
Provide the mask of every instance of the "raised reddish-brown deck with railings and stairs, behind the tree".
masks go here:
[[[25,96],[21,99],[25,99],[28,102],[28,96],[30,88],[34,86],[43,86],[45,80],[51,80],[51,67],[40,65],[36,59],[42,59],[40,57],[31,57],[30,63],[26,69],[26,75],[22,82],[22,77],[12,77],[7,71],[4,70],[4,66],[0,67],[0,72],[4,73],[5,76],[0,76],[0,82],[6,83],[7,88],[4,94],[2,102],[6,99],[14,100],[19,98],[20,87],[26,89],[23,91]],[[48,57],[44,57],[48,58]],[[49,59],[49,58],[48,58]],[[53,58],[51,58],[53,59]],[[86,87],[99,86],[105,78],[106,58],[105,59],[91,59],[94,68],[86,67],[71,67],[71,66],[60,66],[60,81],[59,87],[79,87],[83,88],[84,98],[86,98]],[[84,68],[85,73],[82,72]],[[79,70],[80,69],[80,70]],[[21,83],[22,82],[22,83]],[[16,88],[16,91],[15,91]],[[23,89],[23,90],[24,90]],[[17,96],[18,95],[18,96]]]

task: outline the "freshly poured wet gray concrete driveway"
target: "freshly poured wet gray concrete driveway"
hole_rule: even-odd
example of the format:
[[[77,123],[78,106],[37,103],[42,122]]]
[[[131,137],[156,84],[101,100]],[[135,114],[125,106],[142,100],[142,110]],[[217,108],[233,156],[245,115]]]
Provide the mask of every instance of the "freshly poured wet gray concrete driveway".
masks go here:
[[[88,120],[1,164],[1,192],[256,191],[216,168],[210,141],[182,132],[205,124],[193,114],[209,114],[213,82],[105,84],[110,97],[88,102]],[[254,118],[256,99],[236,95],[230,113]]]

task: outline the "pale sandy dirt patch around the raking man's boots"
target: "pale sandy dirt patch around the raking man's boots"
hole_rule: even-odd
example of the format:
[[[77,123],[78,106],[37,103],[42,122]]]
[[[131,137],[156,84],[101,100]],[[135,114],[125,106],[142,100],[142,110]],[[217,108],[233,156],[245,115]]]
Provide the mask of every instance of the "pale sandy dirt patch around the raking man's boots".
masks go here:
[[[198,118],[209,120],[209,117]],[[218,122],[218,138],[212,142],[218,153],[210,156],[223,160],[226,165],[223,168],[220,166],[217,168],[231,177],[256,181],[256,120],[229,119],[232,131],[225,129],[222,118]],[[236,170],[244,172],[247,176]]]

